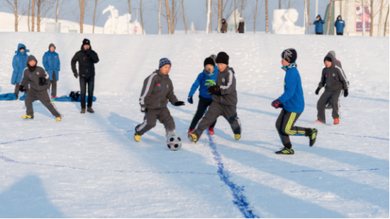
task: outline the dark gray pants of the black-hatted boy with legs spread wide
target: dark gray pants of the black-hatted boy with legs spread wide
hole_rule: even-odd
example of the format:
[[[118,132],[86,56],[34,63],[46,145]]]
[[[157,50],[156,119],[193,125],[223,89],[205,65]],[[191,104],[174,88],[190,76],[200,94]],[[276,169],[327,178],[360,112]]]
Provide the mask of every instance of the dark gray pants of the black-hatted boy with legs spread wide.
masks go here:
[[[193,132],[196,137],[199,139],[203,131],[213,124],[219,116],[223,116],[226,120],[228,120],[233,133],[241,134],[241,122],[240,118],[237,117],[237,106],[225,106],[213,101],[211,106],[208,107],[206,115],[204,115],[204,118],[202,118],[199,123],[198,128],[196,128]]]

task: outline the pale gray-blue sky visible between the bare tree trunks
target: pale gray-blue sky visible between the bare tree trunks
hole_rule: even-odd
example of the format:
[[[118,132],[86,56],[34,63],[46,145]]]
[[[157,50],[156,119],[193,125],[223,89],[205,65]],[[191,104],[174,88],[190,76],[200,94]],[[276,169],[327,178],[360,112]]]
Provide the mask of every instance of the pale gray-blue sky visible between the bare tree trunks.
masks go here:
[[[1,0],[2,5],[0,6],[0,11],[13,13],[11,9],[5,6],[4,1]],[[28,5],[29,0],[19,0],[21,4]],[[60,0],[67,1],[66,4],[60,8],[60,14],[65,13],[65,16],[62,19],[69,21],[78,21],[79,8],[77,0]],[[178,7],[180,11],[180,17],[178,19],[176,30],[184,30],[184,22],[182,18],[182,5],[177,0]],[[239,0],[238,0],[239,1]],[[247,26],[247,31],[253,31],[254,22],[252,18],[252,4],[255,3],[255,0],[247,0],[248,5],[243,11],[243,18],[245,18],[245,23]],[[213,0],[213,2],[218,2]],[[233,3],[233,0],[224,0],[224,2]],[[259,4],[264,0],[259,0]],[[297,26],[303,26],[303,0],[291,0],[291,8],[296,9],[299,12],[298,21],[296,21]],[[132,19],[134,20],[137,16],[137,9],[140,8],[140,0],[131,0],[131,14]],[[288,5],[287,0],[282,0],[282,9],[286,9]],[[326,6],[329,4],[329,0],[318,0],[318,13],[324,17]],[[106,9],[108,5],[115,6],[119,11],[119,16],[122,16],[125,13],[128,13],[128,1],[127,0],[99,0],[99,5],[97,6],[99,19],[96,22],[96,26],[104,26],[106,23],[109,13],[101,14],[101,12]],[[21,6],[20,6],[21,7]],[[269,0],[269,30],[272,30],[272,14],[274,9],[279,9],[279,4],[277,0]],[[162,7],[162,11],[165,11],[165,7]],[[191,26],[191,23],[194,23],[196,30],[206,30],[206,0],[184,0],[184,10],[186,13],[186,23],[187,28]],[[55,18],[55,9],[51,10],[50,17]],[[233,11],[233,7],[224,11],[223,16],[225,18]],[[311,0],[310,5],[310,21],[313,22],[316,17],[316,1]],[[87,16],[84,19],[84,23],[92,24],[92,16],[94,13],[94,1],[87,0]],[[138,21],[140,21],[140,14],[138,14]],[[145,26],[145,32],[147,34],[157,34],[158,33],[158,0],[143,0],[143,22]],[[213,31],[216,30],[217,17],[213,16]],[[265,31],[265,7],[262,6],[260,11],[259,18],[256,23],[257,31]],[[313,33],[314,28],[310,26],[309,33]],[[162,34],[167,34],[167,20],[162,17]]]

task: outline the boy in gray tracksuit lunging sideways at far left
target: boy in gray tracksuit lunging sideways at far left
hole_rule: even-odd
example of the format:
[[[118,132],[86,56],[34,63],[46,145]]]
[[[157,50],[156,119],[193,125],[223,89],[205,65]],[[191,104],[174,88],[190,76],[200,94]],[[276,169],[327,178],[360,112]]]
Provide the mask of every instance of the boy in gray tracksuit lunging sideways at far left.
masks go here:
[[[33,102],[35,99],[39,99],[43,105],[48,108],[50,113],[57,118],[57,121],[61,120],[61,114],[58,112],[57,107],[50,101],[50,95],[48,90],[49,75],[42,67],[37,66],[38,61],[33,55],[27,58],[27,68],[23,71],[23,80],[19,90],[24,92],[24,86],[30,82],[30,89],[26,95],[24,103],[26,104],[26,115],[22,118],[34,118]]]

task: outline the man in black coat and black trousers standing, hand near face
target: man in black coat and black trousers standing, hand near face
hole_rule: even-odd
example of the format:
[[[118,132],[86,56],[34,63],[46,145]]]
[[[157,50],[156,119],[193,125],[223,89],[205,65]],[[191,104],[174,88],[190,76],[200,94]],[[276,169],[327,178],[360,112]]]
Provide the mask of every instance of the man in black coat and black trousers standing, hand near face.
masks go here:
[[[79,62],[79,73],[77,73],[76,62]],[[79,52],[74,54],[72,58],[72,71],[74,77],[79,77],[80,95],[81,95],[81,113],[85,113],[85,95],[87,93],[88,84],[88,103],[87,111],[94,113],[92,109],[92,99],[94,97],[94,82],[95,82],[95,63],[99,62],[97,53],[92,50],[91,42],[88,39],[82,41],[82,47]]]

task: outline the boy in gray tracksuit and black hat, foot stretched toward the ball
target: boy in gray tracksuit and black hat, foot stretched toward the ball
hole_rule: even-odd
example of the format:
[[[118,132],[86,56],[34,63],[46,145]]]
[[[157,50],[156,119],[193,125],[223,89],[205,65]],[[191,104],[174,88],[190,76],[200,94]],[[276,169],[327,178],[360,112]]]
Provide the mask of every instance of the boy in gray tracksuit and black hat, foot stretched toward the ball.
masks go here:
[[[191,142],[197,142],[202,133],[219,116],[223,116],[232,128],[235,140],[241,137],[241,123],[237,117],[237,91],[235,91],[235,76],[233,68],[229,67],[229,56],[225,52],[219,52],[216,58],[218,77],[216,86],[209,86],[208,94],[213,95],[213,103],[208,108],[206,115],[193,133],[189,133]]]

